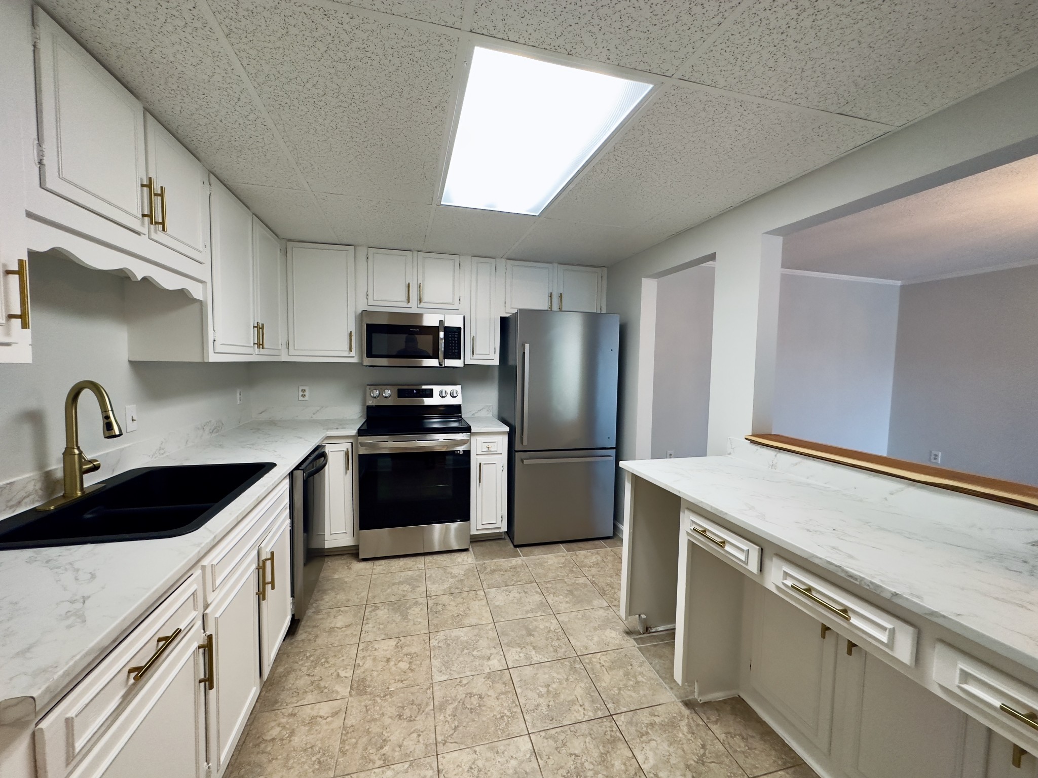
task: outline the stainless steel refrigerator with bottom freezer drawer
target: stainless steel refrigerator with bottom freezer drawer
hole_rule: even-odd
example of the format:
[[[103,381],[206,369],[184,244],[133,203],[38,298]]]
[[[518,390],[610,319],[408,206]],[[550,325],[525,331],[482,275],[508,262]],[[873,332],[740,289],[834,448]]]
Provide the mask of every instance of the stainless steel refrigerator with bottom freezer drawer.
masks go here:
[[[614,313],[520,310],[501,319],[512,543],[612,534],[619,353]]]

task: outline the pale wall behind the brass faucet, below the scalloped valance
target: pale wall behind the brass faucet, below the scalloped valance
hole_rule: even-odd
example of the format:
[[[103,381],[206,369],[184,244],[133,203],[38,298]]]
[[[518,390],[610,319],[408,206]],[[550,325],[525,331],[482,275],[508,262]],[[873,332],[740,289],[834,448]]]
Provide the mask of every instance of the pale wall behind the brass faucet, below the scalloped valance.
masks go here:
[[[89,456],[192,424],[237,424],[250,416],[245,364],[128,361],[122,278],[46,254],[30,257],[29,277],[32,363],[0,364],[0,483],[61,464],[65,394],[83,379],[108,390],[120,422],[128,405],[137,406],[139,418],[136,432],[105,440],[98,404],[84,393],[80,442]],[[238,388],[246,390],[241,406]]]

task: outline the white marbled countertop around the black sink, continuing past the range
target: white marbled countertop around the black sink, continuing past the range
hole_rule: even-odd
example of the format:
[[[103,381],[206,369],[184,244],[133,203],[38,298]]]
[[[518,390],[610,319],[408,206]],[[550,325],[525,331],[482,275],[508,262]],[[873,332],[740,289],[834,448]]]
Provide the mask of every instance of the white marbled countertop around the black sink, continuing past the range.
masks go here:
[[[472,432],[507,432],[489,416]],[[38,715],[325,438],[363,419],[253,421],[147,465],[273,462],[204,527],[180,537],[0,551],[0,724]]]

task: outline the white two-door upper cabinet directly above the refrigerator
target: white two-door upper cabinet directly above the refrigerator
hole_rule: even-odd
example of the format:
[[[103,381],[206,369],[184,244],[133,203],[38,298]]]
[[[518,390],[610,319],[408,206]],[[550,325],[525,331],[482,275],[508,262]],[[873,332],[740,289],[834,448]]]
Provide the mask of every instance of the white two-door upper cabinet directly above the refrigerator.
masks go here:
[[[504,273],[506,313],[519,309],[605,310],[605,268],[509,259]]]

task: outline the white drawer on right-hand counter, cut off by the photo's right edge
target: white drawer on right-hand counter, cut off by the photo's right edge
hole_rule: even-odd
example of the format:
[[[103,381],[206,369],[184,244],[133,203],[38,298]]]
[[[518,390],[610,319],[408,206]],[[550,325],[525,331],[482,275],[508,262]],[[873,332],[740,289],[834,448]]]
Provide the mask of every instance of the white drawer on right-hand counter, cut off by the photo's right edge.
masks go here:
[[[933,679],[969,703],[969,712],[982,723],[1038,753],[1038,689],[939,640]]]

